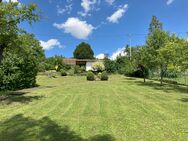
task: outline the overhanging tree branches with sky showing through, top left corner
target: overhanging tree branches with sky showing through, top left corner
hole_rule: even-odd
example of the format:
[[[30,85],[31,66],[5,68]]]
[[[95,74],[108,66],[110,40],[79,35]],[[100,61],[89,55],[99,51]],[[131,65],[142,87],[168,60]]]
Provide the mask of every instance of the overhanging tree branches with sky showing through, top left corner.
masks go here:
[[[18,24],[24,21],[31,24],[40,19],[36,10],[36,4],[19,5],[19,3],[0,1],[0,62],[3,50],[11,44],[14,45],[18,35],[23,32]]]

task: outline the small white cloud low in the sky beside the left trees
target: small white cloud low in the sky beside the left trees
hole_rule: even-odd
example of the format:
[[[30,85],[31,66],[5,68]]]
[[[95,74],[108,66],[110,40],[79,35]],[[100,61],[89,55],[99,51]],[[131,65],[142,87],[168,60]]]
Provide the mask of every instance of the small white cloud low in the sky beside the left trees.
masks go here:
[[[59,48],[63,48],[63,45],[61,45],[61,43],[57,39],[50,39],[48,41],[40,40],[40,45],[44,50],[50,50],[56,46]]]

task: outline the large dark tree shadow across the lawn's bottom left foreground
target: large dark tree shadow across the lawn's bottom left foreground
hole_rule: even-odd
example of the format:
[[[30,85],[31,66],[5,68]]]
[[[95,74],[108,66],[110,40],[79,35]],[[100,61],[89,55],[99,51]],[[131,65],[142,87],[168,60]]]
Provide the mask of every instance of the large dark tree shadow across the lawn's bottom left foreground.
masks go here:
[[[111,135],[96,135],[85,139],[68,126],[59,126],[48,117],[35,120],[19,114],[0,122],[0,125],[1,141],[115,141]]]

